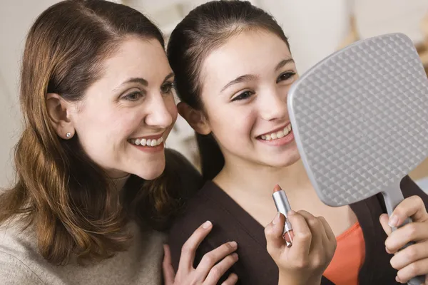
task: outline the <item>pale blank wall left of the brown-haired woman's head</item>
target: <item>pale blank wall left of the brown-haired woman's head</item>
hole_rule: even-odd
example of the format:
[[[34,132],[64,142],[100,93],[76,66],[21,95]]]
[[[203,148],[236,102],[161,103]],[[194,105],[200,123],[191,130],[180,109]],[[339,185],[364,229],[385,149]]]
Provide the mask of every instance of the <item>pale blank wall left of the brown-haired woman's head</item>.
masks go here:
[[[14,179],[12,147],[21,120],[18,105],[19,63],[29,27],[41,11],[56,0],[14,0],[0,3],[0,187]]]

